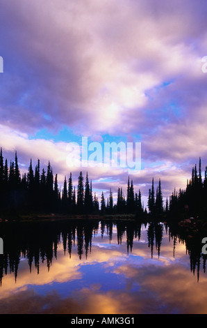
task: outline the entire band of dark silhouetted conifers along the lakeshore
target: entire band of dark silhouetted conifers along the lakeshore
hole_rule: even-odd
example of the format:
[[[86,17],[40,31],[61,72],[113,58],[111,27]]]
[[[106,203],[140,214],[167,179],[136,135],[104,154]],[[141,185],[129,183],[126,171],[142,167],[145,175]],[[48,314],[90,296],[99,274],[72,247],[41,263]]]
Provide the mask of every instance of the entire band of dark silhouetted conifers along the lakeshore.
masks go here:
[[[174,190],[172,195],[163,202],[161,181],[154,186],[152,178],[149,188],[147,207],[144,208],[142,195],[139,189],[135,192],[133,179],[129,179],[126,186],[126,195],[122,188],[118,188],[116,202],[110,188],[109,197],[101,193],[99,200],[92,191],[92,181],[86,173],[78,176],[78,184],[74,186],[72,172],[65,177],[63,190],[58,186],[58,174],[53,174],[51,163],[48,162],[47,170],[40,172],[40,160],[33,167],[32,159],[28,165],[28,172],[21,175],[19,170],[17,151],[15,160],[8,164],[0,151],[0,216],[17,218],[19,215],[58,213],[68,215],[113,215],[135,214],[137,218],[154,218],[161,220],[180,220],[193,216],[206,218],[207,200],[207,167],[204,177],[201,173],[201,158],[199,168],[197,164],[192,167],[191,179],[187,180],[184,190]]]

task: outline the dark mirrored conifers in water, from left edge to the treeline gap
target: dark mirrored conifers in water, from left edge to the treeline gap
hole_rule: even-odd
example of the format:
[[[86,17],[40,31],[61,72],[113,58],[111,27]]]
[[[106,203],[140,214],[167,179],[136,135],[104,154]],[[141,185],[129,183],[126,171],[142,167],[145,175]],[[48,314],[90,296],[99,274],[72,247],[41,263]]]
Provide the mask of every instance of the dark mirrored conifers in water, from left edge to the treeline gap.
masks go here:
[[[1,236],[4,241],[3,255],[0,256],[0,281],[3,273],[8,269],[15,274],[17,279],[20,258],[26,258],[28,265],[39,273],[40,262],[47,265],[49,271],[53,258],[57,258],[58,245],[63,243],[64,253],[72,256],[73,246],[77,246],[78,258],[83,254],[88,258],[91,253],[92,238],[101,230],[101,238],[108,235],[109,242],[113,239],[113,228],[117,230],[117,244],[122,244],[122,238],[126,234],[126,251],[132,251],[133,239],[140,238],[141,223],[127,221],[50,221],[36,223],[4,223],[1,225]]]

